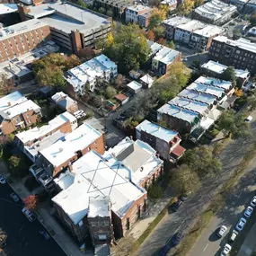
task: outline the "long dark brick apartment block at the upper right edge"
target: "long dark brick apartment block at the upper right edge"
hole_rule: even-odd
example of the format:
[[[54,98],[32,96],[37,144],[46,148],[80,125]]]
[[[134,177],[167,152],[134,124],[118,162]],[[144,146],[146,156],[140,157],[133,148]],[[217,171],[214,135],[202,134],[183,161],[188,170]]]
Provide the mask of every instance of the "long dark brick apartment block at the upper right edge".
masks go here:
[[[256,44],[243,38],[230,40],[225,36],[216,37],[209,49],[209,57],[226,66],[247,69],[256,74]]]

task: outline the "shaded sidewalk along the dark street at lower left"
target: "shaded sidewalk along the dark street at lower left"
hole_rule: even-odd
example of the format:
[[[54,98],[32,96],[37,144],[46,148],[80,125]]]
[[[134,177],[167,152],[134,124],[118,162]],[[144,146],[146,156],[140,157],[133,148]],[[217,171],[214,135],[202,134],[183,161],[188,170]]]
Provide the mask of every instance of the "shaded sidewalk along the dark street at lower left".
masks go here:
[[[0,173],[4,174],[4,177],[8,177],[9,173],[7,171],[7,168],[3,162],[0,162]],[[9,179],[7,178],[7,181]],[[25,178],[22,179],[24,181]],[[12,189],[15,191],[17,195],[21,199],[27,198],[31,192],[26,189],[26,187],[23,185],[22,181],[13,181],[9,180],[8,183],[12,187]],[[83,256],[84,253],[80,252],[80,249],[78,245],[72,240],[72,238],[67,234],[62,227],[57,223],[55,218],[50,215],[49,213],[50,209],[47,210],[46,208],[39,208],[38,209],[38,219],[40,223],[45,227],[45,229],[51,234],[53,239],[56,241],[56,243],[62,248],[62,250],[66,253],[68,256]],[[90,252],[85,252],[86,256],[91,256]],[[91,255],[90,255],[91,254]]]

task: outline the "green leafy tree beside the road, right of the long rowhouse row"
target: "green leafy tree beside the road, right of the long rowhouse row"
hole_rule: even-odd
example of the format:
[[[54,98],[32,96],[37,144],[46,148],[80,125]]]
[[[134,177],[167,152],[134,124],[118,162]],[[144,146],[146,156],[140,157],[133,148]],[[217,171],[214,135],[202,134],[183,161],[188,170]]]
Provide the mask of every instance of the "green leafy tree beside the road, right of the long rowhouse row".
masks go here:
[[[226,110],[218,120],[219,128],[223,129],[226,137],[232,136],[234,139],[252,136],[252,131],[248,123],[244,122],[244,113],[234,114],[233,110]]]

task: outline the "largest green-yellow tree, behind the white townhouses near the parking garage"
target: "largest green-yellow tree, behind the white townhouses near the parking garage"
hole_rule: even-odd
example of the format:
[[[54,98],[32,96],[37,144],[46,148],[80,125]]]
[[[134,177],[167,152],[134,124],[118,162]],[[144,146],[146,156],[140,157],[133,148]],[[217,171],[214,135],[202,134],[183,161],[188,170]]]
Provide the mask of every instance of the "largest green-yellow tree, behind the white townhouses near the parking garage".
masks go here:
[[[104,53],[118,64],[120,73],[128,73],[146,63],[150,48],[139,26],[128,24],[120,27],[113,44],[106,46]]]

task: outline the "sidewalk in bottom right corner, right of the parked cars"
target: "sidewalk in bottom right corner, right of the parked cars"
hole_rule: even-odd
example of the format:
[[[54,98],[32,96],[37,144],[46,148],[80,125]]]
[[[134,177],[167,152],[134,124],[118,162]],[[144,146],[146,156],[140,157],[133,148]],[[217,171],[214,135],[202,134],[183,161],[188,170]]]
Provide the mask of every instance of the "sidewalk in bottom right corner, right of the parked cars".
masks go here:
[[[243,242],[237,256],[250,256],[252,252],[256,252],[256,223],[252,225],[252,228]]]

